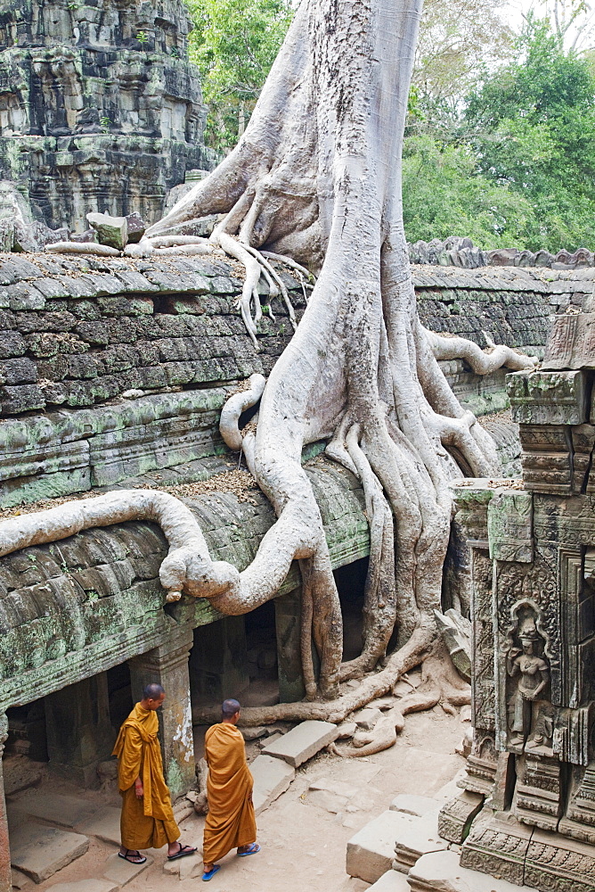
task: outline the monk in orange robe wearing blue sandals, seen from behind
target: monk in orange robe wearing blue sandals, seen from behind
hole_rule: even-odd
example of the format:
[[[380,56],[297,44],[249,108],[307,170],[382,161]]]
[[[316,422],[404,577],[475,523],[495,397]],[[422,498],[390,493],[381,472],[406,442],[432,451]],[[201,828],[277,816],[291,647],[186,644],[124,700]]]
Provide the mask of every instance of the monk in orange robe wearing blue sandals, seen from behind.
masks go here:
[[[257,821],[252,805],[254,780],[246,762],[246,748],[236,725],[240,718],[237,700],[225,700],[220,724],[205,735],[208,764],[208,815],[205,823],[203,880],[211,880],[219,870],[215,862],[232,848],[238,855],[256,855]]]

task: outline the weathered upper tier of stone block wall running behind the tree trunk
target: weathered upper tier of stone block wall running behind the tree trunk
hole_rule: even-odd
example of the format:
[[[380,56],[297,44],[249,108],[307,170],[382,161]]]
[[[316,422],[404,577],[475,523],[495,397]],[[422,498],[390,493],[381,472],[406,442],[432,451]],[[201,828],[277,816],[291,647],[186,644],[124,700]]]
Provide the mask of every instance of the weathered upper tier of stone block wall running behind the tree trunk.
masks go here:
[[[268,375],[289,343],[280,301],[275,321],[259,324],[257,352],[237,309],[242,274],[226,260],[0,256],[0,507],[227,467],[218,411],[239,382]],[[413,268],[429,328],[482,345],[487,333],[527,352],[545,342],[552,308],[592,288],[548,275]],[[301,287],[282,276],[299,316]],[[558,285],[566,292],[551,294]],[[506,405],[503,371],[480,378],[461,361],[444,371],[477,414]],[[516,458],[510,427],[495,434]]]

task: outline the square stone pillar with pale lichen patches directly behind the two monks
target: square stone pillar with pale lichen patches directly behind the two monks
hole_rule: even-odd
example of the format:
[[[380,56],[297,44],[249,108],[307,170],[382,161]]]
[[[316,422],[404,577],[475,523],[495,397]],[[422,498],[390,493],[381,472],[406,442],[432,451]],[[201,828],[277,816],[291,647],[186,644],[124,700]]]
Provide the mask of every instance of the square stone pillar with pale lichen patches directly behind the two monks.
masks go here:
[[[128,660],[134,703],[138,703],[144,686],[151,682],[160,684],[166,692],[158,712],[159,739],[167,786],[173,799],[190,789],[195,779],[188,672],[191,648],[192,630],[183,629],[167,644]]]

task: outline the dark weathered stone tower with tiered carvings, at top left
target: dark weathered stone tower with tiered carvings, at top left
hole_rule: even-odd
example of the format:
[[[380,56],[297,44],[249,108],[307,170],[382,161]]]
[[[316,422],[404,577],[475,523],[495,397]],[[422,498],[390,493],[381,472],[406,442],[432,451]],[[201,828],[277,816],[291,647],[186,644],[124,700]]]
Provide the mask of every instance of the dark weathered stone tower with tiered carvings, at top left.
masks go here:
[[[183,0],[0,0],[0,178],[37,219],[158,219],[210,169]]]

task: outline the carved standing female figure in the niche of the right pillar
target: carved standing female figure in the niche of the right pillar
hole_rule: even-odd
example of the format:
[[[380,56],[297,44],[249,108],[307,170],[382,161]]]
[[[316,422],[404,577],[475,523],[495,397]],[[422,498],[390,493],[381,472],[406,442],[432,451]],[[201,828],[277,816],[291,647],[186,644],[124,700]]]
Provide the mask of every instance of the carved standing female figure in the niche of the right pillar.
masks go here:
[[[545,640],[533,607],[519,611],[506,657],[509,675],[509,744],[511,747],[549,747],[551,706],[546,697],[550,665],[543,656]]]

